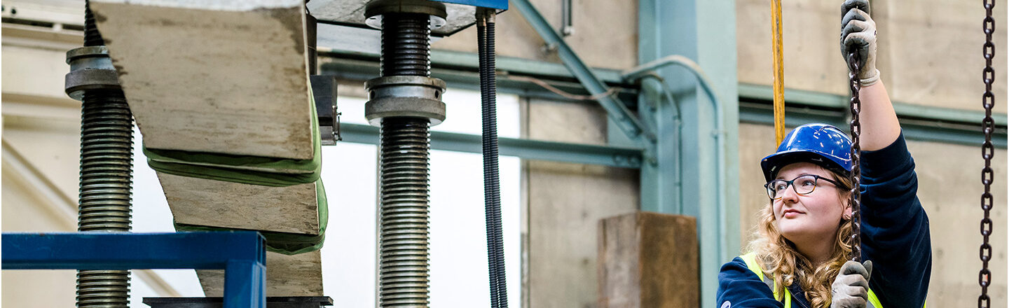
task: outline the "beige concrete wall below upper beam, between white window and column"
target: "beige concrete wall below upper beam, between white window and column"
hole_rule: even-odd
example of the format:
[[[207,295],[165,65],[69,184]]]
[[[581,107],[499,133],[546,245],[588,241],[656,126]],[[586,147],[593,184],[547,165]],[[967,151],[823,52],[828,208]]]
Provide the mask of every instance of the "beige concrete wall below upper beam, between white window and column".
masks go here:
[[[603,144],[605,114],[591,104],[531,101],[528,138]],[[638,171],[529,161],[530,307],[593,307],[599,219],[634,212]]]

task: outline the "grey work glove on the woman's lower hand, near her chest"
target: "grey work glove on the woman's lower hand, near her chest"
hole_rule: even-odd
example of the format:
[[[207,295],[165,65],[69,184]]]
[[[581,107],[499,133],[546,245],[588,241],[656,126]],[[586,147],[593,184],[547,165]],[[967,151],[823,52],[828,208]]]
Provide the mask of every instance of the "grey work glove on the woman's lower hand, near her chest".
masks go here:
[[[830,308],[865,308],[869,302],[869,274],[873,262],[846,262],[830,284]]]

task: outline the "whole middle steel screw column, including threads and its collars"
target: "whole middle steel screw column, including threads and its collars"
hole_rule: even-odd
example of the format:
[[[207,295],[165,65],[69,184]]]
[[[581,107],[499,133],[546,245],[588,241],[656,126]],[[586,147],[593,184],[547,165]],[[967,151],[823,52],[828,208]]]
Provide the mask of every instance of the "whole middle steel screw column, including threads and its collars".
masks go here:
[[[378,305],[429,305],[429,128],[445,120],[445,83],[430,78],[431,27],[445,5],[376,0],[365,7],[381,29],[380,75],[365,83],[365,118],[381,127]]]

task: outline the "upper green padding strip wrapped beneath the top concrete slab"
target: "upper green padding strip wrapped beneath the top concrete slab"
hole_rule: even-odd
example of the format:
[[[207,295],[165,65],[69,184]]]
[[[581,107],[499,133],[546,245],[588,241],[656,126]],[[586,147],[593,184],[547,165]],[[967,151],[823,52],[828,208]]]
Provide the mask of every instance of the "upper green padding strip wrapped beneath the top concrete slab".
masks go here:
[[[150,168],[174,175],[274,187],[315,182],[322,171],[322,144],[315,98],[311,104],[312,159],[141,148]]]

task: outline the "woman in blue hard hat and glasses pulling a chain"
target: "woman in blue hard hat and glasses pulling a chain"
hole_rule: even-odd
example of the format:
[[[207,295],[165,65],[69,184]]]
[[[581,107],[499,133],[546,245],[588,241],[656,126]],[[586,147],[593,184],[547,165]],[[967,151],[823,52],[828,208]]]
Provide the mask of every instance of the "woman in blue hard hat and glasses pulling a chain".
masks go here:
[[[876,69],[867,0],[842,6],[842,54],[858,51],[862,89],[862,260],[852,252],[851,140],[839,129],[793,130],[761,161],[771,204],[750,253],[722,266],[717,304],[730,307],[920,308],[931,272],[928,217],[896,113]],[[871,278],[871,279],[870,279]]]

